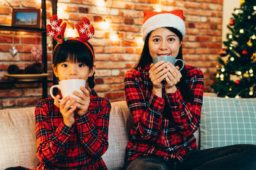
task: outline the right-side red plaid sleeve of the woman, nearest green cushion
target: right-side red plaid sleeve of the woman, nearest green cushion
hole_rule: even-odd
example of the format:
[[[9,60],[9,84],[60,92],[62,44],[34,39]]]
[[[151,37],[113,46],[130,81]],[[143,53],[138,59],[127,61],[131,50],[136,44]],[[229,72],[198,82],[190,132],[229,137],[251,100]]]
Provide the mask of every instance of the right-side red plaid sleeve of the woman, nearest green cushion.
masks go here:
[[[171,108],[171,117],[176,128],[185,136],[192,135],[199,128],[201,118],[201,106],[203,103],[203,72],[193,69],[189,72],[191,79],[189,84],[194,94],[192,103],[185,102],[179,90],[174,94],[165,94],[166,105]]]

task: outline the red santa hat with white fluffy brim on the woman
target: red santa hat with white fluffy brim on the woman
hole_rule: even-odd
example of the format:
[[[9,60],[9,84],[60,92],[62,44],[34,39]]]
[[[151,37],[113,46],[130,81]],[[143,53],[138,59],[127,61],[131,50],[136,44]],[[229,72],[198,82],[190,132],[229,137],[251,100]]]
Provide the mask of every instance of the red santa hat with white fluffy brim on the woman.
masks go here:
[[[182,38],[185,38],[186,28],[183,11],[176,9],[174,11],[148,11],[144,10],[144,23],[142,26],[143,40],[146,39],[152,30],[156,30],[161,27],[173,27],[179,30],[182,34]]]

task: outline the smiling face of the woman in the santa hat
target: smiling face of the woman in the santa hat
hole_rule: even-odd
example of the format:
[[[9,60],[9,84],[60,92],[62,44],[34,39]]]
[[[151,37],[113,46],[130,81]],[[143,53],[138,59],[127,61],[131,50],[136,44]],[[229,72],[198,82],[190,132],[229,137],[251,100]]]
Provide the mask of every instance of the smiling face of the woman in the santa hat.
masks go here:
[[[177,57],[182,41],[167,28],[153,30],[149,36],[149,53],[152,58],[161,55]]]

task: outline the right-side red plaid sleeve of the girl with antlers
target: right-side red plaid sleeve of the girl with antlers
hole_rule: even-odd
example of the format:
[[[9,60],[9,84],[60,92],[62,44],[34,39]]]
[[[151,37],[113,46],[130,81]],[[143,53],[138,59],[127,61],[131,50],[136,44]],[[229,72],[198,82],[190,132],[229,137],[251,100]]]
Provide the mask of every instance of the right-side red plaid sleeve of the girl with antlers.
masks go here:
[[[97,109],[93,110],[92,108]],[[78,116],[75,121],[78,127],[79,139],[87,153],[91,154],[92,157],[101,157],[107,151],[110,109],[109,101],[91,102],[88,113]],[[94,111],[94,113],[91,113],[91,111]],[[97,120],[92,117],[95,114],[97,114]]]

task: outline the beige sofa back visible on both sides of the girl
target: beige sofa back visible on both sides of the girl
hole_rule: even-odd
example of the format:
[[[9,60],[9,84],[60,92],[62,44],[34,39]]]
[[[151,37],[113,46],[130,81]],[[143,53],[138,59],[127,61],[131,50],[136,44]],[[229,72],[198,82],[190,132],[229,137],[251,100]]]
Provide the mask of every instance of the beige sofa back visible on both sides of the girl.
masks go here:
[[[125,101],[111,103],[109,147],[102,156],[108,169],[122,169],[132,116]],[[36,157],[35,107],[0,110],[0,169],[34,168]]]

